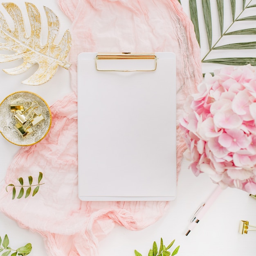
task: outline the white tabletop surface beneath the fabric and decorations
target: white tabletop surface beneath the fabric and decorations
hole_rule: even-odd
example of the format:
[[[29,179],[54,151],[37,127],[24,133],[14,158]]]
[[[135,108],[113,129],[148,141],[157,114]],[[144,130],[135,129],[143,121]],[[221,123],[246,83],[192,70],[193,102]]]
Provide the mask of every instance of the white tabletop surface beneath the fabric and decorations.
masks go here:
[[[25,3],[20,0],[12,2],[19,5],[26,19]],[[43,24],[45,24],[42,38],[45,39],[45,35],[47,35],[43,5],[52,9],[59,17],[61,23],[59,38],[61,38],[65,29],[70,27],[71,22],[61,12],[56,0],[31,0],[30,2],[36,4],[41,13]],[[184,8],[187,10],[186,3],[184,3]],[[8,16],[2,6],[0,10],[4,16]],[[56,41],[58,43],[59,40]],[[35,68],[17,76],[10,76],[2,72],[3,68],[15,67],[18,65],[17,63],[21,62],[0,64],[0,101],[12,92],[30,90],[39,94],[49,105],[52,105],[57,99],[70,92],[69,72],[67,70],[59,68],[49,82],[38,87],[31,87],[22,85],[20,82],[33,74]],[[207,69],[209,68],[208,65]],[[18,149],[19,146],[9,143],[0,136],[0,186],[3,183],[6,169]],[[99,243],[100,256],[133,256],[134,249],[137,249],[144,256],[148,254],[153,241],[156,241],[159,246],[161,237],[165,245],[175,239],[173,249],[180,245],[180,252],[177,255],[182,256],[255,255],[256,232],[251,231],[241,235],[238,233],[238,228],[240,220],[249,220],[250,224],[256,225],[256,200],[249,197],[248,193],[237,189],[223,191],[200,221],[198,227],[189,236],[185,236],[194,211],[216,187],[207,175],[201,174],[199,177],[195,177],[188,166],[189,163],[183,161],[177,185],[177,199],[170,203],[168,213],[155,224],[141,231],[129,231],[124,227],[117,226]],[[46,256],[43,239],[38,234],[21,229],[16,222],[0,213],[0,236],[4,237],[4,234],[8,234],[11,247],[18,248],[26,243],[31,243],[33,249],[29,255]]]

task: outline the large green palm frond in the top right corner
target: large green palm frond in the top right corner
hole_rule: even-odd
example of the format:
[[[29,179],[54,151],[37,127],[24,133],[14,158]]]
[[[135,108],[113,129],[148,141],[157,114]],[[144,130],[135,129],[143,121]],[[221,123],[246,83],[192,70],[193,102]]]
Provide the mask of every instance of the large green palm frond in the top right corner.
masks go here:
[[[182,4],[182,0],[179,0]],[[239,42],[239,43],[230,43],[222,44],[222,39],[227,38],[227,36],[241,36],[239,40],[243,40],[245,35],[256,35],[255,27],[247,27],[244,29],[236,29],[239,22],[242,22],[244,25],[249,26],[244,21],[256,21],[256,16],[248,16],[246,11],[253,10],[256,8],[256,4],[253,3],[253,0],[243,0],[242,7],[239,10],[239,7],[236,6],[236,0],[230,0],[231,13],[228,13],[229,9],[225,9],[224,0],[216,0],[216,6],[218,11],[218,19],[212,18],[212,7],[211,4],[215,4],[211,0],[189,0],[189,12],[190,18],[194,25],[195,36],[200,45],[200,34],[202,31],[199,29],[198,24],[198,5],[199,2],[202,4],[202,13],[204,19],[204,26],[207,34],[208,41],[208,52],[202,58],[202,63],[215,63],[215,64],[224,64],[224,65],[256,65],[256,57],[250,57],[245,55],[245,57],[229,57],[229,58],[208,58],[211,52],[216,52],[217,50],[244,50],[244,49],[256,49],[256,42]],[[256,11],[256,9],[255,9]],[[237,14],[236,14],[237,13]],[[231,23],[225,24],[227,29],[224,30],[224,16],[231,16]],[[247,15],[247,16],[246,16]],[[216,22],[215,22],[216,20]],[[218,23],[218,24],[215,24]],[[241,24],[241,23],[240,23]],[[252,23],[250,24],[252,25]],[[213,42],[213,26],[218,26],[220,29],[220,36]],[[203,31],[205,33],[205,31]],[[231,39],[232,40],[232,39]],[[217,46],[220,44],[220,46]],[[227,54],[227,52],[225,52]]]

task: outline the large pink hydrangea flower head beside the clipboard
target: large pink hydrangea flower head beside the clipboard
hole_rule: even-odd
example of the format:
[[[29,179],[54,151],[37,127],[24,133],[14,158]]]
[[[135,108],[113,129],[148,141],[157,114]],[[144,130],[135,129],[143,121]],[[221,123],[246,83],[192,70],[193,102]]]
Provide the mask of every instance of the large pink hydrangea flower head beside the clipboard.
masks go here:
[[[256,69],[227,66],[206,74],[180,121],[191,170],[222,188],[256,194]]]

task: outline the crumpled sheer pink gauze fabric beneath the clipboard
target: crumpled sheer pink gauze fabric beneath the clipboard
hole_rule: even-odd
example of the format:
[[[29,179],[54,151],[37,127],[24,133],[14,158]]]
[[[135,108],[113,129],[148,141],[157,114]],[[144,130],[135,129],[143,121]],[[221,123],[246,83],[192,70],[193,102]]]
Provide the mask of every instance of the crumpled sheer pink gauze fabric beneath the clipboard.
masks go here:
[[[49,256],[96,256],[98,241],[115,225],[139,230],[156,222],[168,202],[82,202],[77,188],[76,60],[80,52],[175,52],[177,119],[201,81],[193,25],[177,0],[58,0],[72,20],[73,93],[51,106],[52,127],[38,144],[23,147],[9,166],[0,210],[22,228],[43,236]],[[177,124],[177,171],[184,141]],[[11,199],[5,186],[43,173],[34,197]]]

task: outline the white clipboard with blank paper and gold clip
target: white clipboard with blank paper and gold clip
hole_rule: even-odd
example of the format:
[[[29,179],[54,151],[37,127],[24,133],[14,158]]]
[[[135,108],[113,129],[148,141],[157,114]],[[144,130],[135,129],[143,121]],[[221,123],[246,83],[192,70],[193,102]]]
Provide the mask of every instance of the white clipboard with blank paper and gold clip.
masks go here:
[[[77,64],[80,200],[174,200],[175,54],[90,52]]]

